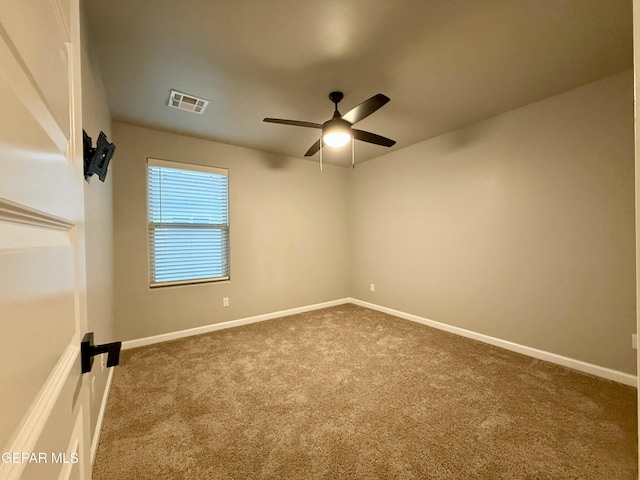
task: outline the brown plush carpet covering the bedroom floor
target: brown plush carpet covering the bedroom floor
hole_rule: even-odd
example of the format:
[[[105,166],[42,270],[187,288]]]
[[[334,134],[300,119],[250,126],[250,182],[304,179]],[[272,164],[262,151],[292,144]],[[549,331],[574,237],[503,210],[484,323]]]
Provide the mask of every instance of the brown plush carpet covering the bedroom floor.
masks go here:
[[[118,479],[635,479],[636,391],[354,305],[123,352]]]

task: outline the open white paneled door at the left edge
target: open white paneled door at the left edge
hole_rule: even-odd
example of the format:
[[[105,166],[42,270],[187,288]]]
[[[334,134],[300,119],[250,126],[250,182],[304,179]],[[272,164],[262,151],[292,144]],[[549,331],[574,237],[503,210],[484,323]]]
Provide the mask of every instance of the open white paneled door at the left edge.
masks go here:
[[[0,0],[0,479],[90,478],[79,0]]]

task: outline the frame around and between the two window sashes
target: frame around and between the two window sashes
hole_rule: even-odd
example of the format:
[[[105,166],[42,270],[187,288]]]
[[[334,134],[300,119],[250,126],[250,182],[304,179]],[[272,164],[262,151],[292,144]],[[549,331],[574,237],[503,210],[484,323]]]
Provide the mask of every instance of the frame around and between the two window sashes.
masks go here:
[[[152,221],[151,218],[151,197],[149,191],[149,167],[160,167],[160,168],[171,168],[176,170],[191,170],[196,172],[204,172],[211,173],[216,175],[223,175],[227,177],[227,205],[226,205],[226,216],[227,223],[226,224],[207,224],[207,223],[156,223]],[[201,165],[195,163],[185,163],[173,160],[162,160],[154,157],[147,157],[145,162],[145,202],[146,202],[146,215],[147,215],[147,268],[148,268],[148,280],[149,280],[149,288],[156,289],[162,287],[173,287],[173,286],[184,286],[184,285],[197,285],[202,283],[215,283],[215,282],[224,282],[229,281],[231,279],[231,261],[230,261],[230,250],[231,250],[231,237],[230,237],[230,209],[229,209],[229,169],[222,167],[214,167],[210,165]],[[226,234],[226,246],[222,245],[224,249],[226,247],[226,258],[225,255],[222,255],[224,268],[223,273],[226,275],[222,275],[220,277],[208,277],[208,278],[191,278],[191,279],[181,279],[181,280],[169,280],[169,281],[156,281],[156,272],[155,272],[155,250],[154,250],[154,237],[153,231],[157,228],[166,228],[167,226],[178,226],[179,228],[186,229],[210,229],[210,230],[220,230],[223,232],[223,237]]]

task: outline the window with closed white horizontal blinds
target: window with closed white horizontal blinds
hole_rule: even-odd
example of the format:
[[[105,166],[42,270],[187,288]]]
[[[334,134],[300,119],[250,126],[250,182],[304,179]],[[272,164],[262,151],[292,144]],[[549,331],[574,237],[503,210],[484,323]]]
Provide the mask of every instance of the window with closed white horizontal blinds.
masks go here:
[[[229,279],[226,169],[147,159],[151,287]]]

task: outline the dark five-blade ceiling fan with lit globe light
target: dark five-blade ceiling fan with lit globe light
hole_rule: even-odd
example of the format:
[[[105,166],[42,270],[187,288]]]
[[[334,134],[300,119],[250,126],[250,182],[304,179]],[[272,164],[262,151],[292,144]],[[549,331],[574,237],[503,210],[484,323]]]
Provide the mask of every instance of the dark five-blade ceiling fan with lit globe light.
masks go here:
[[[308,127],[317,128],[322,130],[322,136],[320,139],[311,145],[305,157],[311,157],[320,150],[322,156],[322,144],[329,145],[330,147],[341,147],[346,145],[349,140],[355,139],[367,143],[373,143],[375,145],[382,145],[384,147],[392,147],[395,145],[395,140],[376,135],[375,133],[365,132],[364,130],[358,130],[352,128],[360,120],[368,117],[380,107],[385,105],[390,99],[386,95],[378,93],[373,97],[365,100],[360,105],[352,108],[344,115],[341,115],[338,111],[338,103],[344,97],[342,92],[331,92],[329,94],[329,100],[335,104],[335,111],[333,117],[324,123],[303,122],[300,120],[284,120],[281,118],[265,118],[265,122],[281,123],[284,125],[293,125],[296,127]]]

